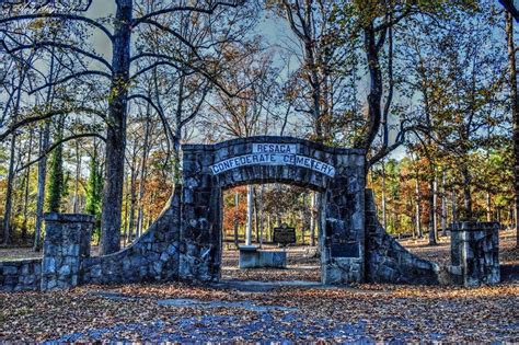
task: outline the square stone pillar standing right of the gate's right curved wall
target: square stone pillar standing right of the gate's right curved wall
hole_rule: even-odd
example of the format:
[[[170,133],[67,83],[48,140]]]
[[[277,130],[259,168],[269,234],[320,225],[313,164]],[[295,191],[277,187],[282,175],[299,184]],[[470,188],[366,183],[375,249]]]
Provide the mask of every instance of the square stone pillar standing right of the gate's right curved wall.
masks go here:
[[[461,221],[451,229],[454,281],[466,287],[499,283],[499,223]]]

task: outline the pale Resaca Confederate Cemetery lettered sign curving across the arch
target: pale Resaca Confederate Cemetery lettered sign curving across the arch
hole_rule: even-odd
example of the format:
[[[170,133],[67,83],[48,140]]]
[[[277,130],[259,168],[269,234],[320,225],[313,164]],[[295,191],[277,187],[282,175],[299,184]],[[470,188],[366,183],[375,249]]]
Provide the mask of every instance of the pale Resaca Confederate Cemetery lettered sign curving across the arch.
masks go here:
[[[335,176],[335,168],[320,160],[297,154],[293,143],[253,143],[252,153],[226,159],[210,165],[214,175],[247,165],[296,165]]]

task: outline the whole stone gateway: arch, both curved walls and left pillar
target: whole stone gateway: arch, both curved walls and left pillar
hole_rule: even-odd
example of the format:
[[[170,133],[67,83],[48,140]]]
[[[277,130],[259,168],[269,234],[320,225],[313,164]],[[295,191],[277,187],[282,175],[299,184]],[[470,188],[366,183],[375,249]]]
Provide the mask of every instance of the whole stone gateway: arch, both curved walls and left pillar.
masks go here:
[[[114,254],[90,256],[90,248],[83,245],[90,235],[78,232],[89,231],[84,217],[50,215],[54,234],[45,239],[44,258],[0,262],[0,289],[218,281],[222,192],[256,183],[285,183],[321,193],[323,284],[439,283],[437,264],[412,255],[380,226],[373,197],[365,189],[362,150],[264,136],[184,145],[182,151],[182,183],[175,185],[162,214],[136,242]]]

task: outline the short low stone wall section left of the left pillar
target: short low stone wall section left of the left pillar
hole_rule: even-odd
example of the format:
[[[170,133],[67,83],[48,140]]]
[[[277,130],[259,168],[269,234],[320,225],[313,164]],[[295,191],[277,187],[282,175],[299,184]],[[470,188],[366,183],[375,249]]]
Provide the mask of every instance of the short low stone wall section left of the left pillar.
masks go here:
[[[41,277],[41,258],[0,262],[0,290],[38,290]]]

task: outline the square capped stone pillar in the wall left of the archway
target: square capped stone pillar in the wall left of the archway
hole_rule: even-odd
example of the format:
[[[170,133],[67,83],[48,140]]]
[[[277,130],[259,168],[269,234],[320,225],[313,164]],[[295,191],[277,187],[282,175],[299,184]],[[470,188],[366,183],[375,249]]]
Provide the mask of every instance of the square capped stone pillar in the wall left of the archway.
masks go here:
[[[80,281],[83,258],[90,256],[94,218],[51,212],[44,219],[42,290],[72,288]]]

